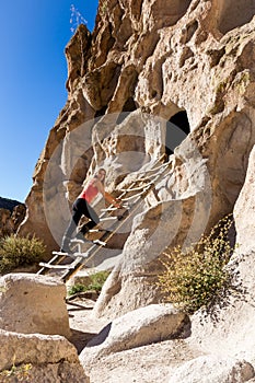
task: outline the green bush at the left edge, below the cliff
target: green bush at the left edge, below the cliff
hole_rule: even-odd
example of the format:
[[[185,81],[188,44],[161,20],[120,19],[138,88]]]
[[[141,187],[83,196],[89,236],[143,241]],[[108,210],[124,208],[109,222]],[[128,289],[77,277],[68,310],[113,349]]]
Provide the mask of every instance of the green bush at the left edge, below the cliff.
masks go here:
[[[7,274],[20,266],[37,264],[44,258],[46,247],[40,240],[15,235],[0,240],[0,274]]]

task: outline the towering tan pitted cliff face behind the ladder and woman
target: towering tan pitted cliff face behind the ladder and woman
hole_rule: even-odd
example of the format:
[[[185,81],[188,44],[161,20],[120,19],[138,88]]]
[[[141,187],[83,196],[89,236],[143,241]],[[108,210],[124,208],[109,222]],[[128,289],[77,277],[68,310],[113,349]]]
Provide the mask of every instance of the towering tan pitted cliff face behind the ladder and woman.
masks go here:
[[[98,314],[157,301],[146,280],[164,247],[196,240],[233,210],[255,143],[253,15],[252,0],[100,1],[94,32],[80,25],[68,44],[68,101],[36,164],[20,234],[56,248],[69,202],[96,166],[118,190],[162,154],[170,164],[134,219]],[[176,131],[188,136],[173,144]]]

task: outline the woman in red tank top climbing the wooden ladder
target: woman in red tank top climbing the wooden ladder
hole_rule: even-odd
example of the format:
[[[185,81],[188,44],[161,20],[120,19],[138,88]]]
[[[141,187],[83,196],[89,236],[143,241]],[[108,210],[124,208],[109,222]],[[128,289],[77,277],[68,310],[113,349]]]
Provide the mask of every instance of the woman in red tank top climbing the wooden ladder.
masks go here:
[[[100,222],[100,218],[95,210],[91,207],[91,202],[101,193],[104,199],[114,205],[116,208],[120,208],[120,202],[117,201],[109,193],[104,189],[106,172],[104,169],[100,169],[88,185],[83,188],[81,194],[78,196],[77,200],[72,206],[72,218],[63,234],[60,252],[70,253],[70,241],[73,232],[76,231],[79,221],[82,216],[90,219],[90,222],[81,228],[81,230],[76,235],[79,240],[84,240],[84,234],[92,228],[94,228]]]

